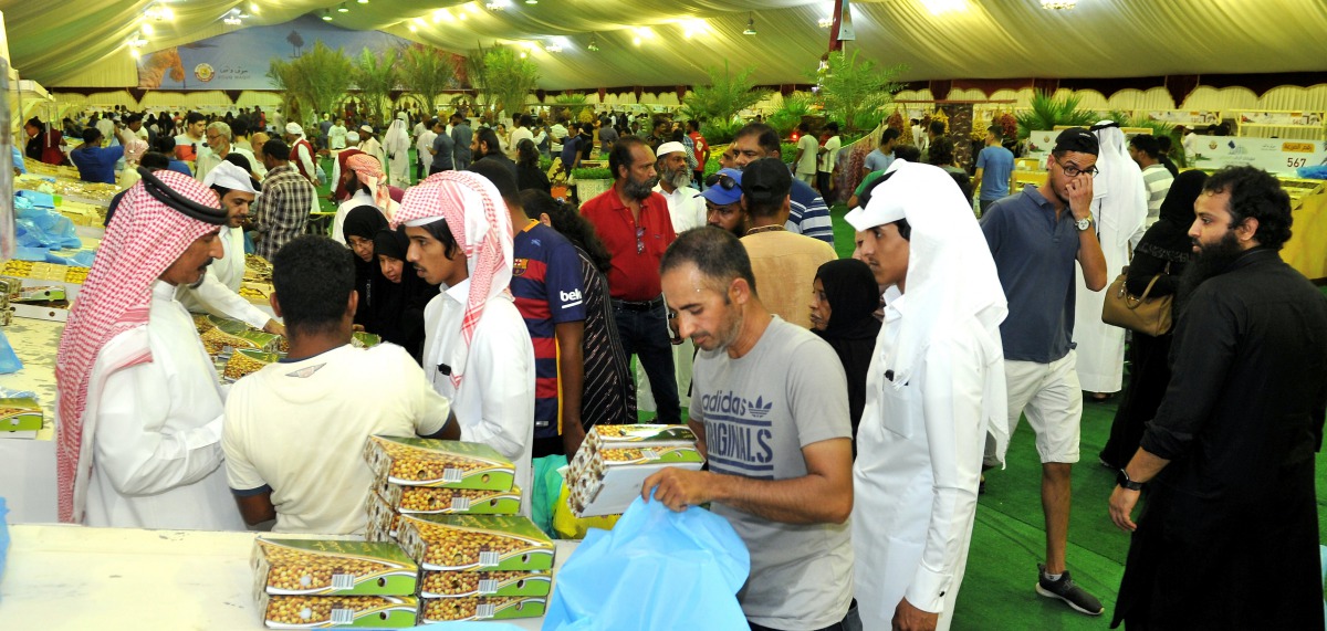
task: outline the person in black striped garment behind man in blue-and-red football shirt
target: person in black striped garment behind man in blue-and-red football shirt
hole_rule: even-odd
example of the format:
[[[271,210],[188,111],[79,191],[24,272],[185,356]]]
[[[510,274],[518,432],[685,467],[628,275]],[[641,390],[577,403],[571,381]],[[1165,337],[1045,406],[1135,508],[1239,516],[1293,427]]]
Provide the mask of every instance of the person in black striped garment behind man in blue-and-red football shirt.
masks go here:
[[[576,247],[585,284],[585,392],[581,395],[581,424],[585,431],[600,423],[636,423],[636,388],[632,366],[613,319],[608,297],[608,249],[594,235],[594,227],[543,191],[522,191],[525,213],[539,217]],[[869,351],[868,351],[869,353]]]

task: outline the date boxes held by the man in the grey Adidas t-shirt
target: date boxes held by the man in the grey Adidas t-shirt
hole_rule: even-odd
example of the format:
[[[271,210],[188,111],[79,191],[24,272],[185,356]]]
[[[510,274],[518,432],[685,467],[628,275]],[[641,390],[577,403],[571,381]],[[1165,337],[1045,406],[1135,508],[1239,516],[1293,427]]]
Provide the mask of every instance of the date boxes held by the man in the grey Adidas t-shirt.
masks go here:
[[[686,426],[594,426],[567,472],[571,509],[577,517],[621,514],[654,472],[703,464]]]

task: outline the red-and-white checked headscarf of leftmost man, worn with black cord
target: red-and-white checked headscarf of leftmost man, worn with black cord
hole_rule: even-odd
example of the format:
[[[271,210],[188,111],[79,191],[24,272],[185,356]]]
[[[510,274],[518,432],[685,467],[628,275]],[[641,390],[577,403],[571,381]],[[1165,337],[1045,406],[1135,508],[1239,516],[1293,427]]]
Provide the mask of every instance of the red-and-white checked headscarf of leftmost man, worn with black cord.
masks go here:
[[[194,178],[174,171],[153,175],[194,201],[220,207],[216,194]],[[96,433],[96,414],[85,419],[84,412],[100,398],[102,384],[90,380],[102,347],[115,335],[147,323],[153,284],[191,243],[218,228],[167,207],[142,182],[125,194],[69,312],[56,355],[60,521],[82,521]],[[151,362],[147,337],[135,339],[110,361],[100,382],[118,370]]]

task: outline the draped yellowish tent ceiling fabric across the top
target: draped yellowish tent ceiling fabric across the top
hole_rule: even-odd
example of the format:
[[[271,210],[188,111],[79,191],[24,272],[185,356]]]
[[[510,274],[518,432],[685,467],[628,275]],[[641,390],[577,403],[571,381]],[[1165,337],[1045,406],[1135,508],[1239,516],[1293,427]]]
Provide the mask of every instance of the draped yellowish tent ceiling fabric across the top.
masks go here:
[[[703,84],[707,66],[755,66],[759,84],[809,82],[828,48],[817,21],[831,0],[510,0],[506,11],[483,1],[349,0],[348,13],[328,0],[257,0],[247,24],[280,24],[330,8],[334,24],[385,30],[467,53],[483,44],[549,42],[533,50],[540,87]],[[125,40],[153,4],[117,0],[0,0],[13,65],[48,86],[104,60],[125,62]],[[174,0],[174,23],[154,23],[149,50],[232,30],[220,16],[249,7],[236,0]],[[933,13],[929,7],[957,7]],[[446,9],[451,19],[434,23]],[[455,16],[466,13],[466,20]],[[743,36],[754,12],[758,36]],[[438,13],[439,17],[443,13]],[[1074,11],[1044,11],[1039,0],[857,0],[857,40],[865,58],[905,64],[904,80],[1144,77],[1165,74],[1323,70],[1327,3],[1322,0],[1079,0]],[[415,32],[409,29],[415,23]],[[683,36],[685,21],[706,32]],[[645,34],[637,28],[648,28]],[[585,50],[591,33],[601,50]],[[642,37],[640,46],[633,38]]]

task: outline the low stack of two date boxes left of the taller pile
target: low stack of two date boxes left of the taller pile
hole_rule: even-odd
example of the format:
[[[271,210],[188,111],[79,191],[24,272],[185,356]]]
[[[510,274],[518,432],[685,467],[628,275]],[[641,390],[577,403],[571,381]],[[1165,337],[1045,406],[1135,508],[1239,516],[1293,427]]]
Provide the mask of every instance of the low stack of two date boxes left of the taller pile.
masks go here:
[[[255,594],[271,628],[413,627],[419,567],[395,544],[259,538]]]

